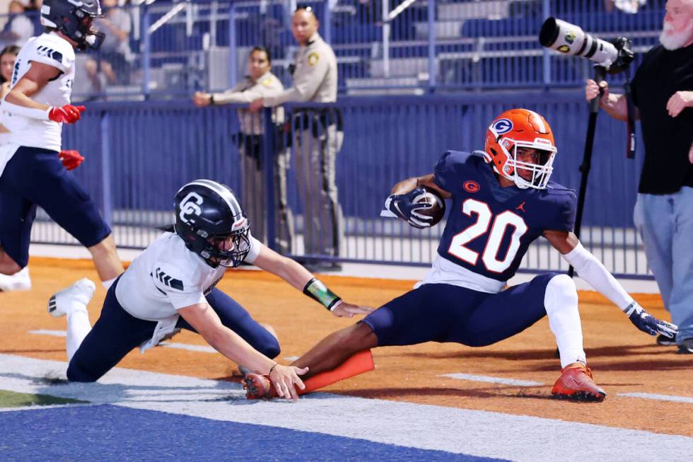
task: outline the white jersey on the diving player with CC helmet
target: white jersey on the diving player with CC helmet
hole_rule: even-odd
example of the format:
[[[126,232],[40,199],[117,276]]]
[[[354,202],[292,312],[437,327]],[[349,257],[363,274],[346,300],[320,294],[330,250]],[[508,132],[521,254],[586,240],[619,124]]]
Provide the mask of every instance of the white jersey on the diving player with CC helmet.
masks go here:
[[[260,241],[250,236],[254,262]],[[120,306],[135,318],[177,320],[180,308],[205,303],[204,295],[223,277],[226,267],[211,267],[185,247],[175,233],[156,238],[127,268],[115,288]]]

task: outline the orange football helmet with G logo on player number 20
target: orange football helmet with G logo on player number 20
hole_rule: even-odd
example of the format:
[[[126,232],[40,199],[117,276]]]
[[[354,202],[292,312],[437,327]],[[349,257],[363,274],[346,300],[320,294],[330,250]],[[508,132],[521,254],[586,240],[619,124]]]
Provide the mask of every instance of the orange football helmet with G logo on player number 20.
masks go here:
[[[518,160],[518,148],[536,149],[539,162]],[[521,189],[533,187],[542,190],[549,183],[557,153],[554,135],[544,117],[528,109],[506,110],[496,117],[486,133],[484,158],[494,170]],[[523,178],[520,173],[530,178]]]

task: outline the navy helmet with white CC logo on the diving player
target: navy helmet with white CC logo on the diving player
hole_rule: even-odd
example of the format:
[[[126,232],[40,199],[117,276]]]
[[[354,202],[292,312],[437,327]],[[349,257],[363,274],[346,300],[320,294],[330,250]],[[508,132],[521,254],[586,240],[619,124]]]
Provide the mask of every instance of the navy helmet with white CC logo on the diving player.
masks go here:
[[[250,251],[250,221],[233,190],[216,181],[194,180],[178,190],[174,229],[211,267],[237,267]]]

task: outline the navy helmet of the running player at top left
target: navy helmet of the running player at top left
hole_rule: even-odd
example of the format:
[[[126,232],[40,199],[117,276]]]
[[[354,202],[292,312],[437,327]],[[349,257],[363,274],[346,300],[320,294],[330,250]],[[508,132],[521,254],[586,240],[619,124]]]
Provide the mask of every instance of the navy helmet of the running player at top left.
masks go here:
[[[101,47],[106,35],[92,25],[99,16],[103,16],[99,0],[43,0],[41,6],[41,25],[64,33],[79,50]]]

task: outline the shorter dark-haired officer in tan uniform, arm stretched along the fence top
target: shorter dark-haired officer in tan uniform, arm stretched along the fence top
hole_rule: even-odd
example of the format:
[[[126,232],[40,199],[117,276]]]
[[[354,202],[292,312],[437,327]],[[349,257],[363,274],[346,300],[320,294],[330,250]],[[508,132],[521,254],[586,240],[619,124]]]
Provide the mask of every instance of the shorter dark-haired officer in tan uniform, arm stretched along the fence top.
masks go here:
[[[271,97],[284,91],[281,81],[270,71],[272,69],[269,52],[264,47],[255,47],[248,56],[248,73],[243,81],[233,89],[223,93],[195,92],[192,100],[202,107],[216,104],[250,103],[262,97]],[[273,115],[275,122],[284,120],[284,110],[277,108]],[[240,163],[243,169],[243,204],[252,223],[252,233],[267,242],[267,211],[264,200],[264,173],[262,171],[262,141],[264,139],[264,120],[262,113],[238,110],[240,133],[238,144]],[[274,157],[274,202],[276,206],[275,229],[276,248],[282,254],[291,253],[293,241],[293,216],[286,200],[286,168],[289,164],[289,150],[281,149]]]

